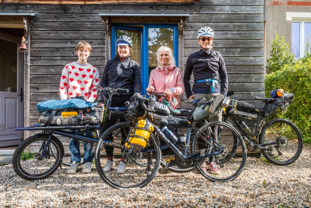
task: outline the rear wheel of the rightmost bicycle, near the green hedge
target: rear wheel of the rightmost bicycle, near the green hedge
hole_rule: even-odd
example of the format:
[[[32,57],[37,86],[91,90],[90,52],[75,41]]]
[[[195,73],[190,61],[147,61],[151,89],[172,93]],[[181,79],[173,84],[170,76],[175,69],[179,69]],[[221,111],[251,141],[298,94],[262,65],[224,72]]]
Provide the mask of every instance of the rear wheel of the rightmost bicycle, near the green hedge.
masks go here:
[[[262,128],[259,144],[263,156],[275,165],[295,162],[302,151],[302,136],[294,123],[286,119],[272,119]]]

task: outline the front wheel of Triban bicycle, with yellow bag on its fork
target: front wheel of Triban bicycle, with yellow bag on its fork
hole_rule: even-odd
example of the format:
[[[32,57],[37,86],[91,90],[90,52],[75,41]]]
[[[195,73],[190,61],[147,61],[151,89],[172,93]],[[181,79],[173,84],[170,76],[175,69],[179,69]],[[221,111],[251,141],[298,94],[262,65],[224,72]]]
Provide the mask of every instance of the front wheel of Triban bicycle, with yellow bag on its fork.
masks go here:
[[[160,167],[160,147],[152,133],[143,149],[134,148],[130,152],[130,148],[119,148],[133,127],[135,123],[131,122],[115,124],[100,136],[95,148],[97,172],[109,186],[116,189],[146,186]],[[113,157],[113,163],[107,156]]]

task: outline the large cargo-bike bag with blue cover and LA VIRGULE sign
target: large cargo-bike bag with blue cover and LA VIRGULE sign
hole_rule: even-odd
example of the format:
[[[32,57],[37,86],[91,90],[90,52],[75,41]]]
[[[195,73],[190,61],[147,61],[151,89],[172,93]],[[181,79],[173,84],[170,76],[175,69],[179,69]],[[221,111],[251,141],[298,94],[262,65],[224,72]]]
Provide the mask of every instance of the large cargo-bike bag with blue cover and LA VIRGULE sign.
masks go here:
[[[79,98],[43,101],[36,109],[41,126],[100,124],[104,119],[103,105]]]

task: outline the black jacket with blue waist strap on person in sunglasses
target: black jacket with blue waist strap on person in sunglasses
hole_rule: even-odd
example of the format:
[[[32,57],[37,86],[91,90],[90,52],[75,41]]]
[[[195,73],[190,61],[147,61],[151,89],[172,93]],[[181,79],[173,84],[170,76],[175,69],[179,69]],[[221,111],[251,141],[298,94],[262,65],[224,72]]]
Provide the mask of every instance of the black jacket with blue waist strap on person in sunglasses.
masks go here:
[[[214,93],[221,93],[227,95],[228,91],[228,76],[224,59],[217,51],[205,50],[197,51],[187,59],[185,66],[185,73],[183,76],[183,83],[185,86],[185,92],[187,98],[193,93],[195,94],[207,94],[212,93],[211,82],[197,82],[193,84],[191,92],[190,77],[193,71],[194,81],[203,79],[213,79],[221,81],[220,85],[215,83]]]

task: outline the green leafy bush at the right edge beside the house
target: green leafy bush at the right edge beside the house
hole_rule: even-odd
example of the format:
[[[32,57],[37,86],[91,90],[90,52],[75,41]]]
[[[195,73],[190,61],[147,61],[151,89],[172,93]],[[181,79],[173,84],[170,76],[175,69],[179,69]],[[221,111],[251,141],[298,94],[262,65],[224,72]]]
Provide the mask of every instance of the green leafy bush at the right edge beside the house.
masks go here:
[[[274,40],[273,44],[279,44],[279,42]],[[286,57],[291,57],[291,55],[288,55],[288,43],[283,41],[282,44],[287,44],[287,46],[282,46],[283,52],[277,51],[277,55],[284,60],[284,57],[281,57],[282,54],[285,54]],[[278,63],[280,69],[275,68],[271,73],[265,75],[265,94],[269,97],[269,92],[276,87],[295,94],[288,109],[277,116],[295,123],[302,133],[304,142],[311,143],[311,46],[308,40],[306,45],[304,57],[297,59],[295,63],[289,62],[284,65]],[[272,50],[271,53],[273,52]]]

